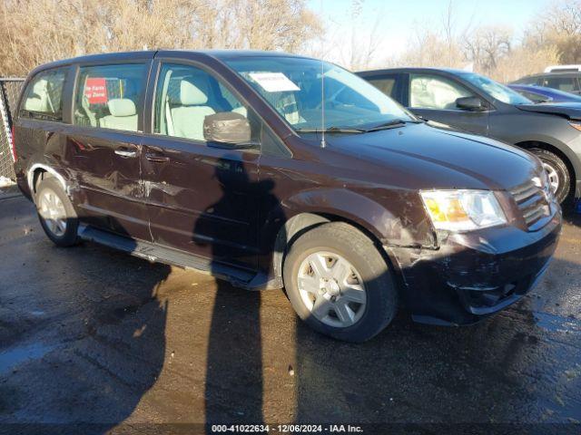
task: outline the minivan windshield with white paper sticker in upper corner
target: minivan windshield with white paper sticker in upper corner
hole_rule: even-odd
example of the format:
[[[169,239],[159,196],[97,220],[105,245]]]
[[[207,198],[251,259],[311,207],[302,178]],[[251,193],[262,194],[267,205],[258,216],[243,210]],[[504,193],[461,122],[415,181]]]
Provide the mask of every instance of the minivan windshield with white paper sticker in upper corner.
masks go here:
[[[332,63],[285,56],[230,58],[224,62],[295,131],[358,132],[418,121],[375,86]]]

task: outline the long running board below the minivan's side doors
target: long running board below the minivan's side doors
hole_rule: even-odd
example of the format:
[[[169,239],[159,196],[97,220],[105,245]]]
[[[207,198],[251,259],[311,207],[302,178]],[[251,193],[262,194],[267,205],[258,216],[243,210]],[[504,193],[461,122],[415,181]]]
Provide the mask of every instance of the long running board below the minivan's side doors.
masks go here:
[[[212,275],[229,281],[231,285],[236,287],[248,290],[281,288],[281,286],[278,286],[280,280],[276,278],[269,280],[265,274],[257,274],[239,267],[213,262],[202,256],[195,256],[170,247],[161,247],[151,242],[118,236],[94,227],[81,226],[79,227],[78,235],[83,240],[95,242],[106,247],[113,247],[151,262],[165,263]]]

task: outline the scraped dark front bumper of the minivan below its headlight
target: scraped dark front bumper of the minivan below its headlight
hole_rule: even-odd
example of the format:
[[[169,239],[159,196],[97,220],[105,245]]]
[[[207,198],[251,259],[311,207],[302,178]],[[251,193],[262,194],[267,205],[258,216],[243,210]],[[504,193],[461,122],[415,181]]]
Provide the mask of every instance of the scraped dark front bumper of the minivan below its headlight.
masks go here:
[[[399,268],[401,299],[414,320],[472,324],[514,304],[538,282],[553,256],[561,212],[545,227],[492,227],[438,235],[438,249],[386,246]]]

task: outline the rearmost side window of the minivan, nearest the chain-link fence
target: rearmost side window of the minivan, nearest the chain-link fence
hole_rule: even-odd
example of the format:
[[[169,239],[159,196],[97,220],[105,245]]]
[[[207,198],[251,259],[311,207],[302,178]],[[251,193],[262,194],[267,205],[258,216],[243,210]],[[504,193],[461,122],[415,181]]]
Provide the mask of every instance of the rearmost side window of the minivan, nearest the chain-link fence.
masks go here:
[[[66,68],[38,73],[28,84],[21,117],[63,121],[63,86]]]

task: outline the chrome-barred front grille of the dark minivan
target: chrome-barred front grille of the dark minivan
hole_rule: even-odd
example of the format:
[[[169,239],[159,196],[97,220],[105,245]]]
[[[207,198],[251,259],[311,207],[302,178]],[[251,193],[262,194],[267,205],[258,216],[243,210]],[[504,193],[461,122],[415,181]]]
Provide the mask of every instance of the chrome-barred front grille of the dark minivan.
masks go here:
[[[551,217],[551,207],[547,201],[546,190],[541,186],[540,179],[531,179],[510,190],[517,206],[522,213],[527,228],[535,230],[543,227]]]

